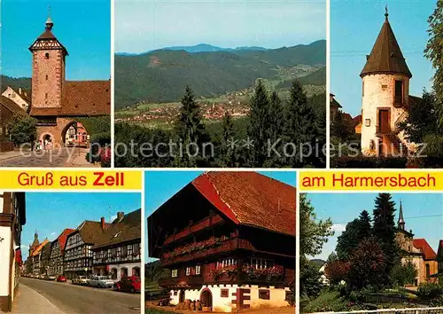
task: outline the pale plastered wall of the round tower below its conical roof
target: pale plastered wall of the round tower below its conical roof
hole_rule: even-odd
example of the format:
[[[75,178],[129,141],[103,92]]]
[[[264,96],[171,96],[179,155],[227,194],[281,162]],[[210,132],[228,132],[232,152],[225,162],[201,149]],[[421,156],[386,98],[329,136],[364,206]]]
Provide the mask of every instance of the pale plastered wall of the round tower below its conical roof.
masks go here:
[[[362,78],[364,94],[362,96],[361,120],[361,150],[369,150],[370,141],[374,140],[377,149],[377,108],[391,109],[391,130],[395,122],[405,112],[403,108],[393,106],[395,80],[403,80],[403,104],[408,104],[409,78],[406,75],[365,75]],[[383,85],[386,85],[385,90]],[[366,126],[366,119],[370,119],[370,126]]]

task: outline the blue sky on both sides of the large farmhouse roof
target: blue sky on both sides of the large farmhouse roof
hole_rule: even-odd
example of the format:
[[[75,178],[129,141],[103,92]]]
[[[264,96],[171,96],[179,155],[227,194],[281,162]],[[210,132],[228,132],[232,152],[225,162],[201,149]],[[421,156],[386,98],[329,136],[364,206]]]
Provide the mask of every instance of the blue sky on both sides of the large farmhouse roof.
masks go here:
[[[202,173],[203,171],[146,171],[144,173],[144,216],[146,218],[150,216],[176,192]],[[294,171],[260,171],[260,174],[293,186],[297,183],[297,175]],[[146,224],[144,234],[148,234]],[[148,257],[147,251],[145,256]]]

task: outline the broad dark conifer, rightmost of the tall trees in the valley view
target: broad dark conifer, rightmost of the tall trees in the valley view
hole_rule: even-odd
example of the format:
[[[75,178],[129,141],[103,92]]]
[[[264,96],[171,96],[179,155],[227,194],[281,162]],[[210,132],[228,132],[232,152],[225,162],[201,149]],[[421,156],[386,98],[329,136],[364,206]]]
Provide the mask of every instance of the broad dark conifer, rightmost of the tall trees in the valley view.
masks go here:
[[[309,158],[303,157],[302,160],[301,153],[305,156],[309,153],[308,145],[314,149],[317,126],[314,108],[307,103],[307,96],[298,80],[292,82],[285,120],[285,135],[296,149],[294,156],[288,158],[288,163],[293,168],[304,167],[309,163]],[[302,148],[303,152],[300,152]]]

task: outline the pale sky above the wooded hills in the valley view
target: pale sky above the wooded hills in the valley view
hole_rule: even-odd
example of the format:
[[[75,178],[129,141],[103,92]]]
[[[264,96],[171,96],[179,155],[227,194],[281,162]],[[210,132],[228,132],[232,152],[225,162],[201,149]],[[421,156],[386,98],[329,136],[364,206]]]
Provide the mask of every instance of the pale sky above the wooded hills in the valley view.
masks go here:
[[[115,51],[210,43],[277,48],[326,38],[325,0],[117,0]]]

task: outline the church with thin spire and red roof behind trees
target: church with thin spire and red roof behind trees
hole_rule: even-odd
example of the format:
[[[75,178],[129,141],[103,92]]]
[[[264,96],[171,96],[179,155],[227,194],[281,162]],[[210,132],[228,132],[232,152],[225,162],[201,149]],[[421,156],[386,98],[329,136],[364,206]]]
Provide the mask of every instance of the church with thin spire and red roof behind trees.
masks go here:
[[[400,216],[398,221],[397,243],[400,246],[402,263],[411,262],[416,266],[416,279],[413,286],[431,282],[438,273],[437,255],[426,239],[414,239],[412,231],[406,231],[406,222],[403,217],[403,208],[400,202]]]

